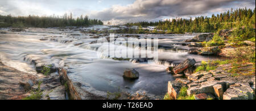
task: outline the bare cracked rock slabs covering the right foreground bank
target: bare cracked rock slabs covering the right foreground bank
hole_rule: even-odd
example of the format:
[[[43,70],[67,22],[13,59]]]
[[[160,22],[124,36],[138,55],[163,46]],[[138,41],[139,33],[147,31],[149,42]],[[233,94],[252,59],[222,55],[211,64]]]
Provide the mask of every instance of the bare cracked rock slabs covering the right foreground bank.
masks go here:
[[[252,65],[240,67],[242,73],[251,71]],[[168,95],[178,99],[181,87],[196,100],[253,100],[255,99],[255,74],[236,76],[228,72],[231,64],[218,65],[215,70],[200,71],[176,78],[168,83]],[[207,95],[207,96],[200,96]]]

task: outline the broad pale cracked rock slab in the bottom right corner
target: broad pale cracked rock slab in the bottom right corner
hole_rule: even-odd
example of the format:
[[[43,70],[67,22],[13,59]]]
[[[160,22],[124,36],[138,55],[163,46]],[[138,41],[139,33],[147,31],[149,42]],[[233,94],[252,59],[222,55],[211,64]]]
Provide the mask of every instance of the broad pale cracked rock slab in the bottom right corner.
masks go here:
[[[223,95],[224,100],[253,100],[253,89],[241,84],[234,84]]]

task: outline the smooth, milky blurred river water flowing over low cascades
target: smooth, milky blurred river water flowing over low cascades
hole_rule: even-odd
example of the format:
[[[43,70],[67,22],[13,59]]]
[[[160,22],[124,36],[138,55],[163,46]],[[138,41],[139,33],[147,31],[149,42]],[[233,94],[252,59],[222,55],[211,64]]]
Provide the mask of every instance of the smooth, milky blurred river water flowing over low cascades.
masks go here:
[[[128,92],[144,91],[151,95],[163,96],[167,92],[167,83],[174,80],[166,72],[171,63],[180,63],[187,58],[195,58],[197,62],[214,59],[188,54],[191,48],[182,41],[191,39],[191,35],[139,35],[139,38],[158,38],[158,61],[134,63],[119,61],[102,52],[104,46],[94,44],[98,36],[92,33],[81,33],[89,29],[118,29],[105,25],[79,29],[28,28],[23,32],[10,32],[8,28],[0,31],[1,60],[20,71],[36,74],[32,61],[54,63],[56,67],[67,67],[68,76],[73,82],[82,83],[82,88],[90,93],[117,92],[124,89]],[[118,34],[117,37],[127,37]],[[106,38],[109,35],[102,35]],[[40,40],[41,39],[41,40]],[[44,40],[45,39],[45,40]],[[124,46],[125,48],[125,46]],[[111,50],[110,50],[111,51]],[[171,61],[171,62],[170,62]],[[123,71],[133,68],[139,72],[139,79],[123,79]]]

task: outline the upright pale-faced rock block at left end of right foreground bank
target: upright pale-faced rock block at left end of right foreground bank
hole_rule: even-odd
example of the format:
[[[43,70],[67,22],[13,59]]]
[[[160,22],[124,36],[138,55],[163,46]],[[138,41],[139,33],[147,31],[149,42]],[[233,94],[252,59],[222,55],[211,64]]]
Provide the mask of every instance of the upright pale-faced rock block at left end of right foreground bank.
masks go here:
[[[177,99],[180,93],[180,89],[182,84],[177,81],[170,81],[168,82],[168,95],[171,96],[173,99]]]

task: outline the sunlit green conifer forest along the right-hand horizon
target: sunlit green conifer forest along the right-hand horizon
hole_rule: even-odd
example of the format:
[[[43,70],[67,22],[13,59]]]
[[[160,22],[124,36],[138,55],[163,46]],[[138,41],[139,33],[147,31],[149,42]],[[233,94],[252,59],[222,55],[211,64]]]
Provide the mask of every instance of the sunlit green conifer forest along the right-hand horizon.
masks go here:
[[[137,25],[139,27],[155,26],[157,29],[170,33],[184,32],[216,32],[220,29],[232,29],[234,27],[249,27],[255,29],[255,8],[233,8],[211,17],[199,16],[195,19],[172,19],[159,22],[127,23],[128,27]]]

